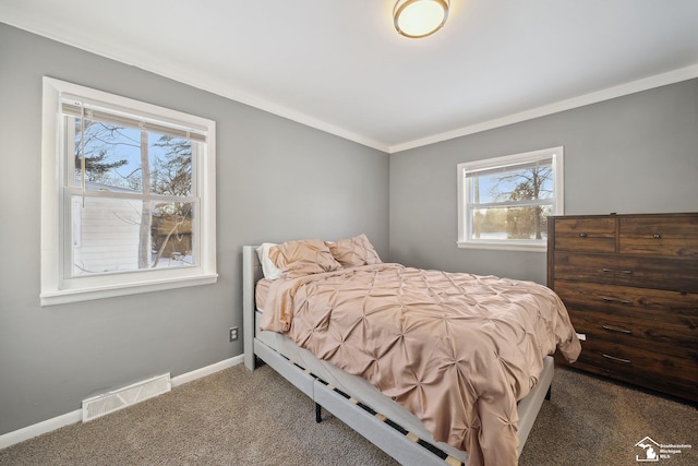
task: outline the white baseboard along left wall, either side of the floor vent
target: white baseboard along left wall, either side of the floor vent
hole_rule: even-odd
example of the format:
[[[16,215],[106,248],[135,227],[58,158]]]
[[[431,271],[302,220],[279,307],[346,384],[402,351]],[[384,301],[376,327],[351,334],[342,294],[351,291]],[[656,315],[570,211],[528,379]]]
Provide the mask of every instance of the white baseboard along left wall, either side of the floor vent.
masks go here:
[[[196,369],[191,372],[177,375],[172,379],[172,387],[182,385],[196,379],[201,379],[202,377],[210,375],[212,373],[221,371],[224,369],[238,366],[239,363],[242,363],[242,359],[243,355],[239,355],[230,359],[206,366],[205,368]],[[83,410],[81,408],[32,426],[27,426],[22,429],[17,429],[12,432],[3,433],[2,435],[0,435],[0,449],[5,449],[10,445],[14,445],[15,443],[24,442],[25,440],[29,440],[44,433],[60,429],[61,427],[80,422],[82,421],[82,419]]]

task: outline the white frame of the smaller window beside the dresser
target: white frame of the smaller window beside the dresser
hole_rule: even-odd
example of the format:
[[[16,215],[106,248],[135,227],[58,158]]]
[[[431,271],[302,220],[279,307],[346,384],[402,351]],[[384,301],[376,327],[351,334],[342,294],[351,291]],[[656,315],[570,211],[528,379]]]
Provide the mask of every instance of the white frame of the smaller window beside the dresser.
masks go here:
[[[458,247],[474,249],[498,249],[509,251],[545,252],[547,241],[542,240],[514,240],[514,239],[474,239],[471,236],[472,225],[468,223],[470,210],[474,204],[470,199],[469,172],[485,171],[501,168],[515,169],[517,166],[550,160],[553,171],[553,214],[564,214],[564,148],[551,147],[521,154],[506,155],[503,157],[488,158],[483,160],[466,162],[458,164]]]

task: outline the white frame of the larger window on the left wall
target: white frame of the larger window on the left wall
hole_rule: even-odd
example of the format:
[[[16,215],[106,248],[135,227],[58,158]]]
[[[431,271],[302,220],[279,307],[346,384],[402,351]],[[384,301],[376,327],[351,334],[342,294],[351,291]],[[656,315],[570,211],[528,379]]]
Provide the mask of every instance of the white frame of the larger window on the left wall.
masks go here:
[[[127,97],[80,86],[45,76],[43,83],[41,131],[41,306],[62,304],[123,295],[159,291],[184,286],[206,285],[217,282],[216,272],[216,123],[213,120],[158,107]],[[61,95],[79,96],[87,101],[104,104],[109,108],[124,109],[133,115],[155,120],[177,122],[206,135],[200,157],[194,158],[195,179],[193,195],[198,196],[200,231],[198,261],[195,266],[122,272],[80,278],[64,276],[67,248],[63,215],[64,204],[64,147],[61,147],[63,118]],[[67,258],[67,259],[63,259]],[[69,268],[69,267],[68,267]]]

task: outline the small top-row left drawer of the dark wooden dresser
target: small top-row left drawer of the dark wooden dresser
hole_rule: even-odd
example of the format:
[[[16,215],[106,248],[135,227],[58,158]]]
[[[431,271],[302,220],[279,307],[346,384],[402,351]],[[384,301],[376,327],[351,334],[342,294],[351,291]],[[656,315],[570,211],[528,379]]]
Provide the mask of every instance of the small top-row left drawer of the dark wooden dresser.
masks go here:
[[[615,218],[558,218],[555,249],[615,252]]]

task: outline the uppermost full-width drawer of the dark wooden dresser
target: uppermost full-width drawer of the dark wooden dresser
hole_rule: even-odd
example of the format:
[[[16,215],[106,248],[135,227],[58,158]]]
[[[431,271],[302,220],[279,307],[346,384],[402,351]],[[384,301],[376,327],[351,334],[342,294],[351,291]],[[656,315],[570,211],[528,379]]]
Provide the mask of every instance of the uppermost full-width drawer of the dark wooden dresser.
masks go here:
[[[698,261],[556,251],[555,279],[698,292]]]

